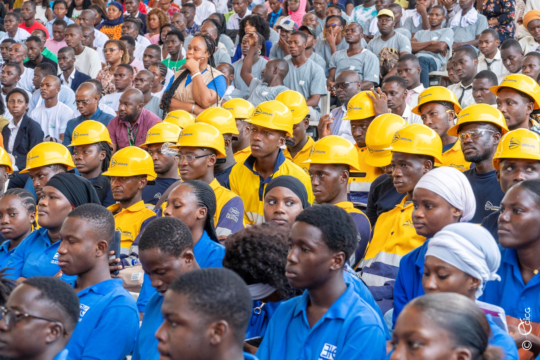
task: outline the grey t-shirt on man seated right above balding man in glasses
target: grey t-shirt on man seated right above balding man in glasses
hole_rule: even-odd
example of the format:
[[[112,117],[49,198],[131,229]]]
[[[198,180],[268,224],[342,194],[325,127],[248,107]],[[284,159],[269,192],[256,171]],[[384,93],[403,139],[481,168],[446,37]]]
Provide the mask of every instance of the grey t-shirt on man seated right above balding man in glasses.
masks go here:
[[[354,70],[360,75],[360,81],[379,84],[379,58],[367,49],[350,57],[347,56],[347,49],[334,52],[330,59],[330,69],[336,69],[335,77],[343,70]]]

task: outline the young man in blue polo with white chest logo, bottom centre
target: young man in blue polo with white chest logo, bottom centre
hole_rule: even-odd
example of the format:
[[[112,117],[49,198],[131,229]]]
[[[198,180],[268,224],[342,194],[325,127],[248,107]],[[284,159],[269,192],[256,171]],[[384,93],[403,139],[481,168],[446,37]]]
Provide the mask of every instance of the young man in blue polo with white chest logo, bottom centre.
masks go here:
[[[296,217],[285,275],[306,291],[276,310],[257,351],[261,360],[384,358],[379,316],[343,280],[356,236],[353,219],[337,206],[307,208]]]

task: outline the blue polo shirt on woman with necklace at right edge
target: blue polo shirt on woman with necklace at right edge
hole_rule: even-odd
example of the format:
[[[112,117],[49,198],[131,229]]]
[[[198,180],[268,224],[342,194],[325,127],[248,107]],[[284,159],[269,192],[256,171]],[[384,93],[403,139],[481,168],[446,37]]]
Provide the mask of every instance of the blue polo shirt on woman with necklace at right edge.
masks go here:
[[[497,274],[501,281],[486,284],[484,294],[478,300],[498,305],[506,315],[525,318],[525,309],[530,308],[530,320],[540,322],[540,275],[537,274],[525,285],[519,270],[515,249],[501,249],[501,266]]]

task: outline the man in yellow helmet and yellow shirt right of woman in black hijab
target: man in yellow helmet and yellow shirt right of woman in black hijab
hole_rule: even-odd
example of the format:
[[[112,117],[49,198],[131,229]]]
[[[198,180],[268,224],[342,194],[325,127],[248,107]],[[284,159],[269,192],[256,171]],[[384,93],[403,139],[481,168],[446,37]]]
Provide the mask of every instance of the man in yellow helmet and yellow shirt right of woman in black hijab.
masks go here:
[[[140,147],[127,146],[112,155],[109,169],[103,175],[110,176],[112,197],[118,201],[107,209],[114,215],[116,229],[122,233],[120,246],[124,253],[156,217],[143,201],[143,188],[156,178],[154,163]]]

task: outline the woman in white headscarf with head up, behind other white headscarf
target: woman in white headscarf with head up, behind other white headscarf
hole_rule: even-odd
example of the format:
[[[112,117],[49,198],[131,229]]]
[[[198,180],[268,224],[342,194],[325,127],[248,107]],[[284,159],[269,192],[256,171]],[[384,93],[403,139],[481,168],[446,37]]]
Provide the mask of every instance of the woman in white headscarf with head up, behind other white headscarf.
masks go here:
[[[461,171],[449,166],[434,168],[422,176],[414,188],[413,204],[413,226],[417,234],[426,236],[428,240],[400,261],[394,284],[393,324],[405,304],[424,294],[424,255],[430,237],[451,223],[473,219],[476,211],[469,180]]]

